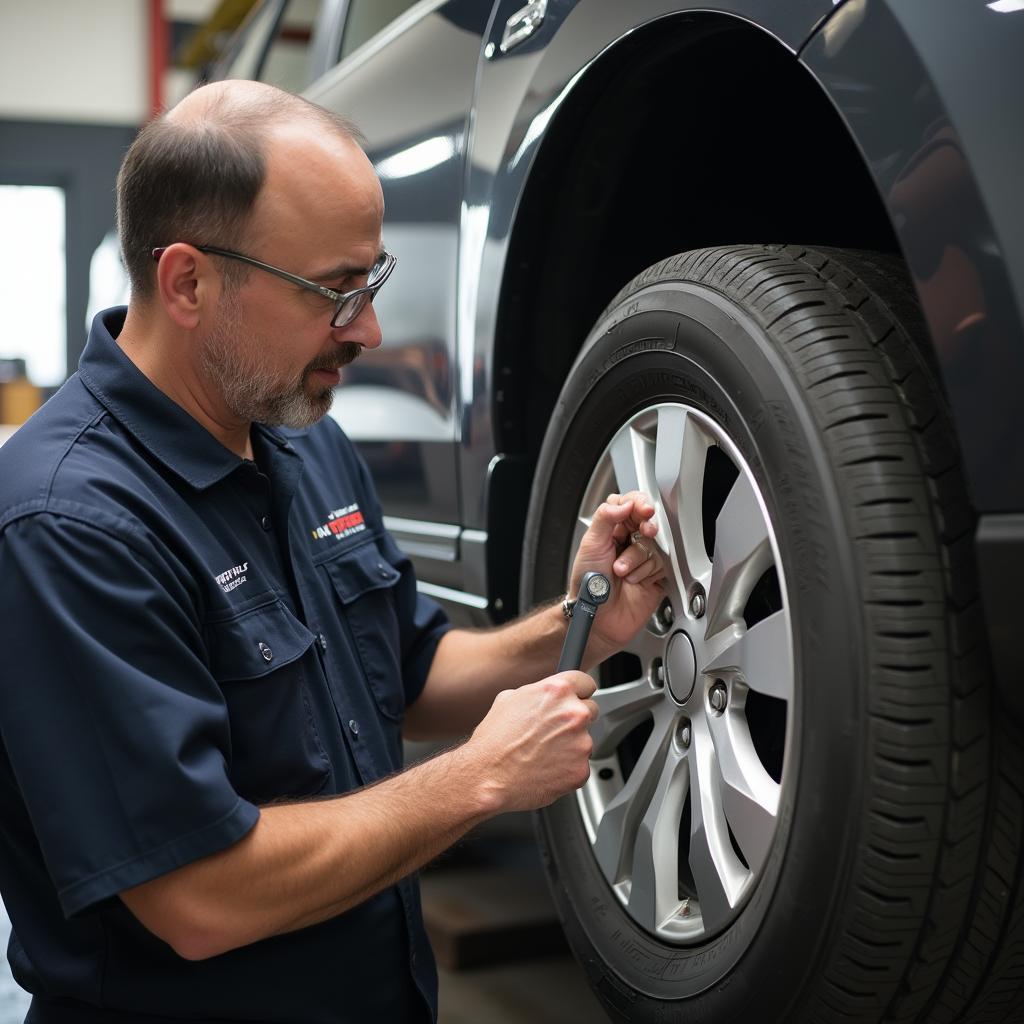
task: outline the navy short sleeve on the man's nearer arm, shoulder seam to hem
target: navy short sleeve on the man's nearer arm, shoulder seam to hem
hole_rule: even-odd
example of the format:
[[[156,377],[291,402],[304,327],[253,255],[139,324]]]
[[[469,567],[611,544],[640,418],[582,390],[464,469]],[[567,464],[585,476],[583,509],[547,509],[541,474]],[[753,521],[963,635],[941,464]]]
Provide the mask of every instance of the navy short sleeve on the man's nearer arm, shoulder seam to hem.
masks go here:
[[[69,916],[240,840],[259,811],[199,615],[127,527],[38,513],[0,535],[0,733]]]

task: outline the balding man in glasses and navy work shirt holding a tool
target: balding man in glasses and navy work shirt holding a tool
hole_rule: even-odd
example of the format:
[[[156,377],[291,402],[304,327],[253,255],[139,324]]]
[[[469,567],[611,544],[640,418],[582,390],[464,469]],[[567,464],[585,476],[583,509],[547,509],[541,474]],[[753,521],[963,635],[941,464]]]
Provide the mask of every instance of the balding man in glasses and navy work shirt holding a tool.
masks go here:
[[[129,306],[0,450],[30,1022],[430,1020],[415,871],[587,778],[594,684],[543,678],[562,608],[451,629],[325,417],[381,342],[382,217],[351,126],[267,86],[197,90],[125,158]],[[570,592],[613,582],[589,664],[660,599],[653,513],[609,496],[577,553]],[[402,731],[469,738],[401,770]]]

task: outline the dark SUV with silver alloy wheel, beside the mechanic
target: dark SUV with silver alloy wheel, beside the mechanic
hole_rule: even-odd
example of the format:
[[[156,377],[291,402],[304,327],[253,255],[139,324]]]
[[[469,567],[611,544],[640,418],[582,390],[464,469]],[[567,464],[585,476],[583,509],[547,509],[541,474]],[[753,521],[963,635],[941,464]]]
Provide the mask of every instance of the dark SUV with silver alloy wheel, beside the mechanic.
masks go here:
[[[500,622],[656,501],[541,816],[616,1020],[1024,1020],[1022,68],[1024,0],[278,0],[220,69],[366,134],[336,415],[424,591]]]

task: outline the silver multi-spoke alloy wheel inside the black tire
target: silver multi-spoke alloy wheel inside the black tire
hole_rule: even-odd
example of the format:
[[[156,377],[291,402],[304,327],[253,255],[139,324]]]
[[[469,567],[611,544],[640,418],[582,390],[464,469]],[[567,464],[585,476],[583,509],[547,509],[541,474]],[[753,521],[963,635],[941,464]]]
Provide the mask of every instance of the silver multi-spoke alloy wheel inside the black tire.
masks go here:
[[[705,493],[713,449],[734,477],[715,501]],[[667,601],[626,647],[639,678],[595,694],[601,716],[578,800],[629,914],[659,939],[691,943],[735,920],[778,830],[782,787],[794,782],[793,636],[764,500],[714,420],[673,402],[626,423],[591,476],[573,551],[606,496],[634,488],[657,508]],[[756,591],[759,615],[750,610]],[[766,753],[766,731],[777,758]]]

